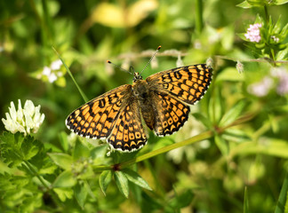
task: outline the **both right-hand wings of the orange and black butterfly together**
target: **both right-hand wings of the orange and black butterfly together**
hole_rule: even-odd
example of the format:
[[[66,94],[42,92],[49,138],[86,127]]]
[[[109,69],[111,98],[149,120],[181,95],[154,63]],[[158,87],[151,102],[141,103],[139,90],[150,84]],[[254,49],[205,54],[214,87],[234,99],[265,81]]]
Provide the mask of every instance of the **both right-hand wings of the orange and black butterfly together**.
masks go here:
[[[212,80],[212,68],[204,64],[178,67],[150,75],[152,103],[155,108],[156,135],[171,135],[188,120],[190,108],[204,96]]]

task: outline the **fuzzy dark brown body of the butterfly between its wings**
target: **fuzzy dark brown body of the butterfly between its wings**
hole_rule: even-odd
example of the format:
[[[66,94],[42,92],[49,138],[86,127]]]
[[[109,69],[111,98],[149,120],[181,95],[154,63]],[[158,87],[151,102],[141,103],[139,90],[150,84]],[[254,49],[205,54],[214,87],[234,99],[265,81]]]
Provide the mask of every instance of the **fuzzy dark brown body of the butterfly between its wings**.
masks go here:
[[[140,106],[140,111],[150,130],[154,129],[155,124],[155,114],[152,104],[152,96],[150,94],[151,90],[147,81],[139,79],[132,84],[133,96],[137,99]]]

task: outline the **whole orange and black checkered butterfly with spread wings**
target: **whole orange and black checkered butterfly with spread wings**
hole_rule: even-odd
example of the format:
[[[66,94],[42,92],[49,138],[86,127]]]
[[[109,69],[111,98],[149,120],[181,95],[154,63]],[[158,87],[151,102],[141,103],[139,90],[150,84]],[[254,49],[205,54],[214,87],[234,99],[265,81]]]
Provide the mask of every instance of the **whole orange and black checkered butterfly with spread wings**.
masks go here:
[[[206,64],[177,67],[146,80],[139,73],[133,75],[132,85],[108,91],[68,115],[68,129],[86,138],[106,138],[119,151],[136,151],[147,143],[144,122],[157,136],[180,130],[188,120],[189,105],[207,91],[212,68]]]

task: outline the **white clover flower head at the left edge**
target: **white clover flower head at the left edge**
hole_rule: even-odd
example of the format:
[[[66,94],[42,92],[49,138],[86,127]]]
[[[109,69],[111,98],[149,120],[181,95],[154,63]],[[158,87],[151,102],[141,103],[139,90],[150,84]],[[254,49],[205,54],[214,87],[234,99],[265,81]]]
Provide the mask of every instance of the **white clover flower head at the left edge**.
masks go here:
[[[20,99],[18,100],[18,110],[11,102],[9,107],[9,114],[6,113],[6,120],[3,118],[5,129],[16,133],[20,131],[26,136],[30,133],[36,133],[39,130],[40,125],[44,121],[44,114],[40,113],[40,105],[34,106],[31,100],[25,102],[24,108],[21,106]]]

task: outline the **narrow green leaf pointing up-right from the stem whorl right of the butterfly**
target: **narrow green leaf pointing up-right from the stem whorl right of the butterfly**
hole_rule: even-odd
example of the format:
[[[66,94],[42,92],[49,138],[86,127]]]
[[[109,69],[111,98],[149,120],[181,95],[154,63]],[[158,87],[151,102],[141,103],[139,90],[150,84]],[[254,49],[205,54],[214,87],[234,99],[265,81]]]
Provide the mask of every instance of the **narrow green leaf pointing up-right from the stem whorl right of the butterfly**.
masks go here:
[[[236,119],[242,113],[246,105],[247,103],[244,99],[238,101],[235,106],[232,106],[232,108],[230,108],[228,112],[223,115],[223,117],[220,120],[219,126],[220,127],[228,126],[228,124],[236,121]]]

